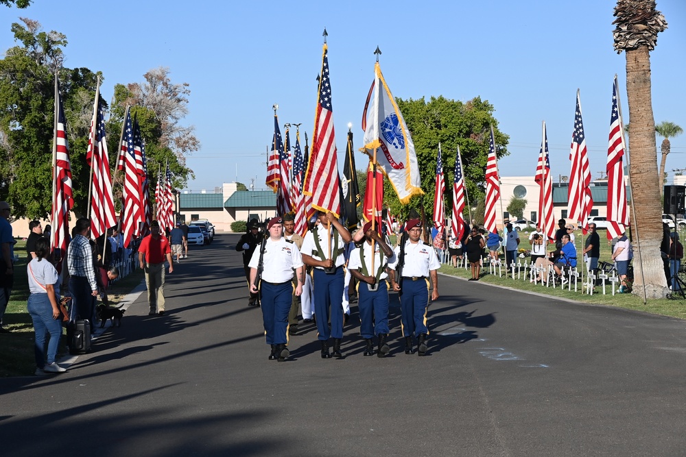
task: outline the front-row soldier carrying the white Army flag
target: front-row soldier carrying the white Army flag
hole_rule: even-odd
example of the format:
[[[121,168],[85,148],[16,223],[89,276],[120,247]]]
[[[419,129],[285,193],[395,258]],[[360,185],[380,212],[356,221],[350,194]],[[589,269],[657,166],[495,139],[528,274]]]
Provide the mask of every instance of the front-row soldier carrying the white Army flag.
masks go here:
[[[388,354],[388,284],[386,269],[389,262],[394,262],[393,249],[379,236],[378,225],[372,229],[369,221],[355,233],[353,241],[364,241],[360,247],[351,251],[348,271],[359,281],[357,285],[357,309],[359,310],[359,334],[366,342],[365,356],[374,355],[372,338],[379,338],[377,356]],[[384,237],[385,238],[385,237]],[[372,254],[372,247],[374,249]]]

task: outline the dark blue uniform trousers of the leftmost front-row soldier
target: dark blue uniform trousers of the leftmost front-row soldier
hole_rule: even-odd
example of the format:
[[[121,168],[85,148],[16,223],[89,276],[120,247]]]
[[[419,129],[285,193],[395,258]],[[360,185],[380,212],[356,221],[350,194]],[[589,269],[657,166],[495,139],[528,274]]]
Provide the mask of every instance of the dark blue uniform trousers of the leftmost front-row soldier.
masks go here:
[[[288,344],[288,312],[291,309],[293,283],[271,284],[262,281],[262,321],[268,345]]]

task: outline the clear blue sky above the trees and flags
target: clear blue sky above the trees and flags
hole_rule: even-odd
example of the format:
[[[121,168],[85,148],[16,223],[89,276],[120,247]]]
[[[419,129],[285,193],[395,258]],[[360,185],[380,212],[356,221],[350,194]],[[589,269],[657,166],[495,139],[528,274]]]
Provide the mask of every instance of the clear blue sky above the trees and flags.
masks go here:
[[[355,147],[362,141],[362,109],[378,45],[381,70],[395,97],[480,96],[493,103],[499,128],[510,136],[510,156],[499,163],[504,176],[534,173],[544,120],[552,171],[569,175],[580,88],[595,178],[605,169],[615,73],[628,121],[626,60],[613,50],[614,5],[613,0],[34,0],[26,10],[0,7],[0,43],[2,51],[12,46],[10,25],[19,16],[66,34],[65,66],[102,71],[107,99],[115,84],[142,82],[147,70],[168,66],[173,82],[190,84],[190,113],[183,123],[196,127],[202,143],[188,160],[196,173],[192,190],[236,179],[249,186],[255,177],[256,188],[265,187],[274,103],[282,130],[287,122],[303,123],[311,137],[324,27],[340,157],[348,122]],[[657,9],[669,28],[651,53],[655,121],[686,129],[686,1],[658,0]],[[672,139],[667,170],[686,168],[685,159],[683,134]],[[365,162],[357,153],[357,167]]]

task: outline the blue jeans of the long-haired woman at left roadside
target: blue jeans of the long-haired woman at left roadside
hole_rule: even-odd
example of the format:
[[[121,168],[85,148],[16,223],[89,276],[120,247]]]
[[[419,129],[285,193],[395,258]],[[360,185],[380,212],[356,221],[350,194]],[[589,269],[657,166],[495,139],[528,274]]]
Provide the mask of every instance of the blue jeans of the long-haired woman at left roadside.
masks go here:
[[[34,322],[34,330],[36,332],[36,345],[34,352],[36,354],[36,367],[43,369],[45,364],[48,365],[55,361],[57,356],[57,348],[60,344],[60,336],[62,336],[62,321],[52,317],[52,305],[47,297],[47,293],[32,293],[29,295],[27,308],[31,314],[31,320]],[[50,340],[47,343],[47,358],[45,357],[45,336],[50,334]]]

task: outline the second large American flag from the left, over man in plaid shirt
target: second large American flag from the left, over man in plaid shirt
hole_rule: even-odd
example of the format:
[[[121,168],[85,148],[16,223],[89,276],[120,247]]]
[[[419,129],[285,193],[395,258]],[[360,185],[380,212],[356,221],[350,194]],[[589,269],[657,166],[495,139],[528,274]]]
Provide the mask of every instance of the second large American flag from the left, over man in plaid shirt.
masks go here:
[[[91,234],[98,238],[107,229],[117,225],[115,203],[112,195],[112,177],[107,153],[105,135],[105,106],[100,97],[99,88],[95,91],[96,103],[91,134],[88,135],[88,149],[86,160],[93,169],[93,183],[91,190]]]

